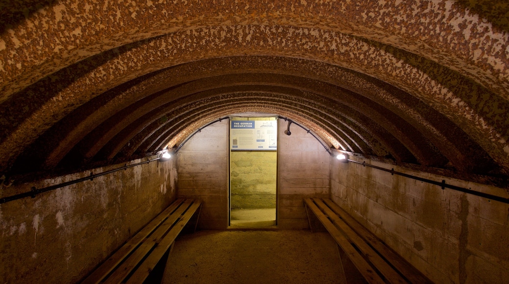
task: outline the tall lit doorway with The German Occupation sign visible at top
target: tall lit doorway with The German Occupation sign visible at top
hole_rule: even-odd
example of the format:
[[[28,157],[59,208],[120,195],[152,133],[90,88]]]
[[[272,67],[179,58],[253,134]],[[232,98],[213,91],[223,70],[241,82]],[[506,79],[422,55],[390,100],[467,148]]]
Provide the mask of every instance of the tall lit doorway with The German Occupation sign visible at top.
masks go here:
[[[276,225],[277,118],[230,120],[230,226]]]

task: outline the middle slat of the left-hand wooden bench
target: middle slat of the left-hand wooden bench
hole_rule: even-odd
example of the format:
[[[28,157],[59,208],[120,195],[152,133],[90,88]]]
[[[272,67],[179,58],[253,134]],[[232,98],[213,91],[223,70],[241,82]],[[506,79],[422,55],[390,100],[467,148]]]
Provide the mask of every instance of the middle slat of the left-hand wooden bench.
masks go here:
[[[122,263],[105,281],[105,283],[121,283],[133,269],[135,269],[140,261],[147,254],[151,253],[153,247],[157,245],[160,239],[173,228],[180,216],[189,208],[192,200],[186,200],[181,206],[175,210],[160,226],[145,240],[136,250],[129,255],[129,258]],[[180,231],[179,231],[180,232]]]

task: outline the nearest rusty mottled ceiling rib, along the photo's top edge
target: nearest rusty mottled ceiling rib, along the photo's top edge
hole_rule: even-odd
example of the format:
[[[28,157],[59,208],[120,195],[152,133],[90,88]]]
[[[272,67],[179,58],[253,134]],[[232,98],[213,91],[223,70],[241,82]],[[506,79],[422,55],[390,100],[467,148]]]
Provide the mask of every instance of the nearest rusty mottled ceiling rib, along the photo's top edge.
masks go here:
[[[475,8],[478,11],[492,4],[485,2]],[[7,59],[2,72],[6,82],[4,99],[31,82],[111,48],[204,25],[225,24],[316,27],[399,46],[435,62],[444,62],[507,97],[507,29],[503,25],[502,29],[500,25],[493,26],[469,8],[451,1],[362,0],[278,5],[270,1],[240,1],[217,6],[58,1],[29,14],[28,18],[4,20],[8,31],[4,31],[4,48],[0,50]],[[493,13],[490,18],[498,20]],[[106,25],[107,30],[103,28]],[[40,34],[39,41],[31,40],[35,33]],[[487,33],[490,41],[486,40]],[[481,50],[479,46],[487,48]]]

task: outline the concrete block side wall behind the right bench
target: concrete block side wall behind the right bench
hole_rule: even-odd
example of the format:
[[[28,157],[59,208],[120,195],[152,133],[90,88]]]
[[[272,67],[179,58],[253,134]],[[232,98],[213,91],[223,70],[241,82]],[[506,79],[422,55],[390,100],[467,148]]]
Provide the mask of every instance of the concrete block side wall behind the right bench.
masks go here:
[[[376,161],[366,163],[509,197],[502,188]],[[355,163],[331,159],[331,166],[334,202],[433,281],[503,283],[509,279],[509,205]]]

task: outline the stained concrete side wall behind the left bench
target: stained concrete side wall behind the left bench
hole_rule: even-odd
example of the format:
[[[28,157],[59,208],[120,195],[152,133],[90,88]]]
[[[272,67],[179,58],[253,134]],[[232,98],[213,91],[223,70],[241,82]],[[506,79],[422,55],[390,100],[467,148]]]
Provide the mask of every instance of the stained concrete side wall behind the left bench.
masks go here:
[[[0,196],[90,172],[4,187]],[[79,281],[173,202],[176,174],[175,162],[153,161],[0,205],[0,282]]]

